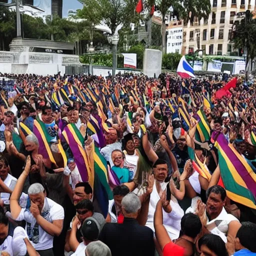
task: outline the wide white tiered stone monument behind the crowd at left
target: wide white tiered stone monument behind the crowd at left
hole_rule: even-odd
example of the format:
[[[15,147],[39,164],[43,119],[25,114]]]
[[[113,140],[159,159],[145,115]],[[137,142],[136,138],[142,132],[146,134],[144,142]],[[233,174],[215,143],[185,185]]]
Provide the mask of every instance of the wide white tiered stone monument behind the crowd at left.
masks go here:
[[[73,54],[73,43],[14,38],[10,51],[0,51],[1,73],[52,75],[80,73],[82,64]]]

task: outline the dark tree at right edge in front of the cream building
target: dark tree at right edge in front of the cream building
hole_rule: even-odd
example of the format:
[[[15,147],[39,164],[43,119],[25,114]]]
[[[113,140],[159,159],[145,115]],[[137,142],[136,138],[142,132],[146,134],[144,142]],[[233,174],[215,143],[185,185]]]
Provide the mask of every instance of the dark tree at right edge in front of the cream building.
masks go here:
[[[236,49],[241,49],[243,54],[246,54],[246,66],[249,60],[252,64],[252,60],[256,57],[256,19],[252,18],[252,13],[246,10],[245,17],[234,22],[234,28],[232,31],[231,41],[234,42]]]

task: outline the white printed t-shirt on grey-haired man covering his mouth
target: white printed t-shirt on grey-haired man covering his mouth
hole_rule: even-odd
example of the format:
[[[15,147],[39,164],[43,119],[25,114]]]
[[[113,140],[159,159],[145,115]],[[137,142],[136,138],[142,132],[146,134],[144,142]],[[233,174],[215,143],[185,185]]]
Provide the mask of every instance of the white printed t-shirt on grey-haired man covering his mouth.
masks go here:
[[[44,204],[41,216],[52,223],[53,220],[64,218],[64,209],[61,205],[54,202],[50,198],[44,198]],[[22,208],[16,220],[25,220],[25,230],[27,235],[36,250],[50,249],[53,246],[53,236],[44,231],[44,229],[37,225],[36,219],[33,217],[29,209]]]

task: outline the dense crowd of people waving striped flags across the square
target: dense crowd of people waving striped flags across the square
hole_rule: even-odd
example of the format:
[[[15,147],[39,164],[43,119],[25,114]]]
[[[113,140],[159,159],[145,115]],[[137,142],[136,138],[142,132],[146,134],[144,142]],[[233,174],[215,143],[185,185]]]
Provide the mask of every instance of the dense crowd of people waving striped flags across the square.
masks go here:
[[[256,83],[4,76],[1,255],[256,255]]]

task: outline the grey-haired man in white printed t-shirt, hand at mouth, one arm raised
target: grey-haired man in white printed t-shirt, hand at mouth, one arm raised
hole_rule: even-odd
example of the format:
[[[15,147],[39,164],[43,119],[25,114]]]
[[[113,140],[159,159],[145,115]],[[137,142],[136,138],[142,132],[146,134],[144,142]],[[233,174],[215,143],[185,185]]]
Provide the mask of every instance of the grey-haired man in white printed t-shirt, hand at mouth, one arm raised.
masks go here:
[[[62,230],[63,207],[45,196],[45,189],[40,183],[28,188],[30,207],[21,208],[18,198],[31,167],[31,158],[27,156],[23,172],[19,176],[10,197],[10,213],[13,219],[25,220],[25,229],[33,247],[41,255],[53,255],[53,236]]]

